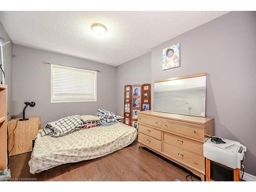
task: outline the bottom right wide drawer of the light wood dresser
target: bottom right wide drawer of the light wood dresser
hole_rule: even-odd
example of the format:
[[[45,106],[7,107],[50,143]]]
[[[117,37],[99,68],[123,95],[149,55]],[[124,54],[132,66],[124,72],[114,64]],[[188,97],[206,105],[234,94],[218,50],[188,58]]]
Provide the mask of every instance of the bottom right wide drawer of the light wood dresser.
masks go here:
[[[164,143],[163,153],[174,158],[178,162],[189,165],[191,168],[195,168],[205,173],[204,157],[202,156],[181,150],[180,148],[167,143]]]

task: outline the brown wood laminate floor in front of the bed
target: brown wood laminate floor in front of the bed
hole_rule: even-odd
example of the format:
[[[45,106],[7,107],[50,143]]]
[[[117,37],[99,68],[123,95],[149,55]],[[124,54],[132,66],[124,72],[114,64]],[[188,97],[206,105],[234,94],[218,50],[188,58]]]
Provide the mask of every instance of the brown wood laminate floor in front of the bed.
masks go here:
[[[135,141],[110,155],[93,160],[60,165],[30,174],[31,153],[10,157],[10,180],[32,181],[186,181],[188,170],[166,160]],[[27,179],[28,178],[28,179]],[[190,181],[191,178],[188,177]],[[193,177],[194,181],[199,178]]]

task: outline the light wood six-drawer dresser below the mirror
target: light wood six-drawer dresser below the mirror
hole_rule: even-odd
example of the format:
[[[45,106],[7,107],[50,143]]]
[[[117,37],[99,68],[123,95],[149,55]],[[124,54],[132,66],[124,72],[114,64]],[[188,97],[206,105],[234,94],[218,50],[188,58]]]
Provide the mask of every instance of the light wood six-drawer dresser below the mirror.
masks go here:
[[[205,178],[203,143],[214,135],[214,118],[153,111],[138,113],[139,146],[174,161]]]

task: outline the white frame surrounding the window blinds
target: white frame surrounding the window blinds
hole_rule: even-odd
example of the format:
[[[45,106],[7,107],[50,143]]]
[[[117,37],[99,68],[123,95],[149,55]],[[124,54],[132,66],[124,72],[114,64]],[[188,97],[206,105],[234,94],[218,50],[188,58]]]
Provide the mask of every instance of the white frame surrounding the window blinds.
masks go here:
[[[82,99],[82,100],[54,100],[53,99],[53,68],[54,67],[59,67],[59,68],[64,68],[64,69],[78,69],[82,71],[89,71],[90,73],[94,73],[94,99]],[[81,68],[76,68],[76,67],[68,67],[68,66],[61,66],[61,65],[53,65],[51,64],[51,103],[71,103],[71,102],[96,102],[97,101],[97,71],[92,71],[92,70],[86,70],[86,69],[81,69]]]

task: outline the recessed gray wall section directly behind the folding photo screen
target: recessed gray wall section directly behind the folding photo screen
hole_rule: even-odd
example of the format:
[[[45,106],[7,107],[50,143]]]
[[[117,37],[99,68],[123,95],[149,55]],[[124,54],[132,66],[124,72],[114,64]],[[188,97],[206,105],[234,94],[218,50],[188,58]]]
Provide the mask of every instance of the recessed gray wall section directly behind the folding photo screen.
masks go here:
[[[116,68],[116,113],[123,116],[123,95],[126,84],[143,84],[151,82],[151,53],[146,53]]]

